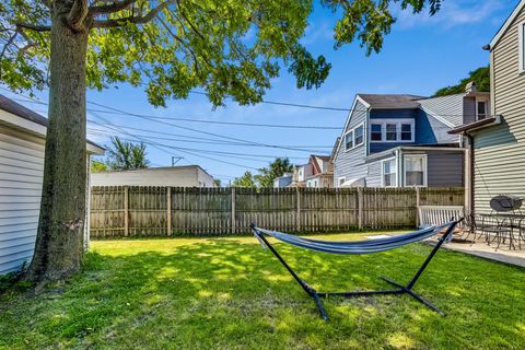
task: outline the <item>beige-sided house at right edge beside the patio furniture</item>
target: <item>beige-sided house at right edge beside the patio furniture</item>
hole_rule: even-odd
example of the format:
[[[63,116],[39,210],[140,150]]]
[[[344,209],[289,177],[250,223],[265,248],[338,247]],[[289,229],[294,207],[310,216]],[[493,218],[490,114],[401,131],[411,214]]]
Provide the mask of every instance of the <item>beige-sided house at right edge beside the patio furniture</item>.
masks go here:
[[[490,116],[455,128],[469,149],[467,205],[490,212],[497,195],[525,198],[525,0],[485,47],[490,51]]]

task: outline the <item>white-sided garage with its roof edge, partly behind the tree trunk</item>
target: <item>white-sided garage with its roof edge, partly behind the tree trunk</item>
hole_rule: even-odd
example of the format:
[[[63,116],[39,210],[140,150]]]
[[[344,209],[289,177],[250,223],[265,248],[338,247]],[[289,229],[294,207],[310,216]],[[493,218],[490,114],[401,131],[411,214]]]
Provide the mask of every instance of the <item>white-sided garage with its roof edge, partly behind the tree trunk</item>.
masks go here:
[[[46,129],[46,118],[0,95],[0,275],[20,269],[33,256]],[[91,154],[104,154],[104,149],[89,141],[86,150],[89,170]],[[85,220],[84,234],[89,222]]]

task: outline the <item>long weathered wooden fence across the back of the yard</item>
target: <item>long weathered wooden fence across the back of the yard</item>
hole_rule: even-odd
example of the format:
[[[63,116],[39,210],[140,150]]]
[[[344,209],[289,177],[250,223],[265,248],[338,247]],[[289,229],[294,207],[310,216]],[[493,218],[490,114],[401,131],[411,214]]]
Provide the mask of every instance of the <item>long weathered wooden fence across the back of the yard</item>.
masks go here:
[[[420,206],[463,206],[463,188],[180,188],[107,186],[91,191],[91,236],[412,228]]]

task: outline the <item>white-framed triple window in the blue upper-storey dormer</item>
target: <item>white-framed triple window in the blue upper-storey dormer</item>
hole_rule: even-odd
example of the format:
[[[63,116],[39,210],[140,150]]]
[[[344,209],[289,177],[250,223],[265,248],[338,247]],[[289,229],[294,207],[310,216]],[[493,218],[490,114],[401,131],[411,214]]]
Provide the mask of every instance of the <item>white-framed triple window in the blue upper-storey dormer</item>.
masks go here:
[[[370,126],[373,142],[413,142],[413,119],[375,119]]]

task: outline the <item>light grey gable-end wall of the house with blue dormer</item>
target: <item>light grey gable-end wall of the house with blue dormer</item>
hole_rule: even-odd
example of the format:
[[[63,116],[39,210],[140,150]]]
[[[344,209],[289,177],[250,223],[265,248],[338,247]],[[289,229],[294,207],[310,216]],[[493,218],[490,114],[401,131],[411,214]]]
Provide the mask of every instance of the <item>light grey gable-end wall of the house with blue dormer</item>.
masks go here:
[[[334,161],[334,187],[339,187],[338,179],[340,177],[351,179],[366,176],[366,165],[364,164],[364,159],[366,156],[366,142],[369,139],[369,131],[365,122],[366,115],[366,107],[358,101],[351,112],[349,117],[350,120],[345,129],[340,147]],[[364,124],[364,144],[347,152],[345,150],[345,133],[361,124]]]

